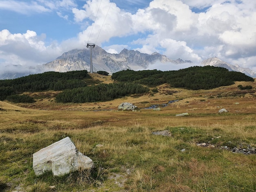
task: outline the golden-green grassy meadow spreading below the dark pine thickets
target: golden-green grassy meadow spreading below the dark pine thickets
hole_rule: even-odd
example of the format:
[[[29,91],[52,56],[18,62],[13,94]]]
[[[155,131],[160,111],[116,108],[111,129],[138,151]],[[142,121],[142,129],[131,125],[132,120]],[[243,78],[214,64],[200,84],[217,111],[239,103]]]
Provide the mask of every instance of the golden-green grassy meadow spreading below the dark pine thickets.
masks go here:
[[[256,154],[232,152],[256,149],[256,82],[157,90],[97,103],[56,103],[54,91],[26,93],[36,103],[0,101],[0,191],[256,192]],[[160,111],[144,109],[171,100],[178,101]],[[117,111],[122,102],[140,111]],[[218,114],[222,108],[229,112]],[[153,134],[165,130],[167,136]],[[95,167],[36,176],[33,153],[66,136]]]

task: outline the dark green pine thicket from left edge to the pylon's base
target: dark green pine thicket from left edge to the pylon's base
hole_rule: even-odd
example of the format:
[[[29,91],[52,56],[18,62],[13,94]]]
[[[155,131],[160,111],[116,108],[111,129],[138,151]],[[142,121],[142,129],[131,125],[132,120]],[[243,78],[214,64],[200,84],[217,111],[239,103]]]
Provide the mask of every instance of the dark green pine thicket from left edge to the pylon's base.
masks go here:
[[[88,71],[68,71],[65,73],[49,71],[16,79],[0,80],[0,100],[7,96],[23,92],[40,92],[46,90],[60,91],[87,86],[91,79]],[[90,84],[96,83],[90,80]]]

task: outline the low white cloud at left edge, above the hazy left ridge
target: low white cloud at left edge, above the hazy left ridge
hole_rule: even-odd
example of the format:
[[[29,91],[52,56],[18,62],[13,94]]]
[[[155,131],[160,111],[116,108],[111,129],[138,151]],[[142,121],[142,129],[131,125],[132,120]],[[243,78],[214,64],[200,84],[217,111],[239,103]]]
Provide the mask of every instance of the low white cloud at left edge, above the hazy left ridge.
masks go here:
[[[63,53],[65,49],[55,42],[45,46],[44,38],[44,34],[37,36],[35,31],[12,34],[4,29],[0,31],[0,58],[6,60],[6,64],[38,65]]]

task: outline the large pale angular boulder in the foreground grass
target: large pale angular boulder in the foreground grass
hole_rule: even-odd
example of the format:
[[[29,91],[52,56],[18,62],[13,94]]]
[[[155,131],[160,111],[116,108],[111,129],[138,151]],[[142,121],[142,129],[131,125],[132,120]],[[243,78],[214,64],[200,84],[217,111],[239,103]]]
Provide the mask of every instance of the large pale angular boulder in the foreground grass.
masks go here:
[[[90,170],[92,159],[83,155],[69,137],[63,138],[33,154],[35,174],[52,171],[54,176],[61,176],[76,170]]]

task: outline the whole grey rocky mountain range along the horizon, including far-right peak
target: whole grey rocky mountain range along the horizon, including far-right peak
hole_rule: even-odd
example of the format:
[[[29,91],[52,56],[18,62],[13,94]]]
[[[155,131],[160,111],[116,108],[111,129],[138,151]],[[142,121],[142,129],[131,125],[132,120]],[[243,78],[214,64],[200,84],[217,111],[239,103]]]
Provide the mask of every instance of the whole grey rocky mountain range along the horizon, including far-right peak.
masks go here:
[[[180,58],[177,60],[172,60],[157,52],[153,54],[144,54],[140,53],[139,51],[123,49],[119,54],[110,54],[97,45],[94,47],[94,49],[92,49],[93,72],[107,71],[108,73],[112,74],[126,69],[144,70],[157,62],[170,63],[173,65],[189,63],[191,66],[193,66],[193,62],[190,60],[182,60]],[[229,69],[229,71],[239,71],[248,76],[256,77],[255,71],[252,71],[249,68],[240,67],[238,65],[231,65],[217,57],[203,60],[200,65],[225,67]],[[66,72],[76,70],[90,71],[90,49],[73,49],[63,53],[61,56],[56,58],[56,60],[43,65],[37,65],[35,67],[25,68],[22,65],[8,65],[2,70],[2,73],[0,72],[0,79],[13,79],[29,74],[38,74],[45,71]]]

